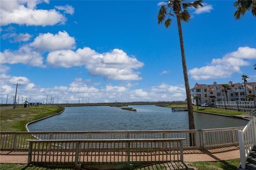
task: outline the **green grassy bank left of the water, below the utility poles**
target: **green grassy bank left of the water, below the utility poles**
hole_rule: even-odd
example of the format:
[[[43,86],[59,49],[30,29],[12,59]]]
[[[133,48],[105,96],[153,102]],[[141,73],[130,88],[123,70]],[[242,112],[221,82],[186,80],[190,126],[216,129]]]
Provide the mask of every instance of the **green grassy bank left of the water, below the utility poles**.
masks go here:
[[[26,131],[26,124],[63,111],[60,106],[30,106],[1,109],[1,131]]]

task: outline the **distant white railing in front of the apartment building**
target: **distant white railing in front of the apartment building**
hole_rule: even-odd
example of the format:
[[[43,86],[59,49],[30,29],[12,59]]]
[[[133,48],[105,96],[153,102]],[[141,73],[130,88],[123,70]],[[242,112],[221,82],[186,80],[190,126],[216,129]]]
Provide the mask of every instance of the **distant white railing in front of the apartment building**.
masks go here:
[[[233,109],[237,111],[251,111],[256,108],[255,101],[215,101],[215,107]]]

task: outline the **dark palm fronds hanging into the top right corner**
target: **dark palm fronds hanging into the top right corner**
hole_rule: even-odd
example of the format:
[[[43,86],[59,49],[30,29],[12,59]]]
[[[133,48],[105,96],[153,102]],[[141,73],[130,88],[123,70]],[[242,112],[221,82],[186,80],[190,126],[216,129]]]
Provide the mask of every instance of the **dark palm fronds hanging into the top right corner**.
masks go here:
[[[237,0],[234,3],[237,8],[234,13],[235,19],[239,20],[241,15],[244,16],[246,11],[251,11],[253,16],[256,16],[256,1],[255,0]]]

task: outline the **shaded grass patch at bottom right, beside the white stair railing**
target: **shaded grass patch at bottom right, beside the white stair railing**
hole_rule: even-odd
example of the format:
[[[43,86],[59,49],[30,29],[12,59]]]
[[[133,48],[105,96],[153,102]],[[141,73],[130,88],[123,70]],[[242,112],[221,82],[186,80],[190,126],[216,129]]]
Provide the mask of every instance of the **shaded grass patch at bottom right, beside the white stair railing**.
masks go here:
[[[195,167],[198,170],[236,170],[240,159],[221,160],[217,162],[193,162],[187,163],[188,166]]]

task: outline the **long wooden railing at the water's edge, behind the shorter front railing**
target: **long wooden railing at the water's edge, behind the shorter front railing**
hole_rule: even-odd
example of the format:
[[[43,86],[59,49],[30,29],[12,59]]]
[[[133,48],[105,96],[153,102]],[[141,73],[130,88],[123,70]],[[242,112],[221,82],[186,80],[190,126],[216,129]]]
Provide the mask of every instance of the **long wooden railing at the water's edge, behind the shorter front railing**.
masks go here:
[[[238,145],[237,131],[244,127],[205,130],[164,131],[79,131],[79,132],[0,132],[0,149],[27,150],[27,139],[173,139],[186,138],[184,149],[217,148]]]

